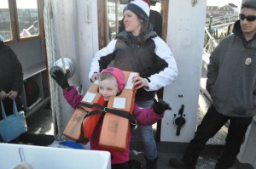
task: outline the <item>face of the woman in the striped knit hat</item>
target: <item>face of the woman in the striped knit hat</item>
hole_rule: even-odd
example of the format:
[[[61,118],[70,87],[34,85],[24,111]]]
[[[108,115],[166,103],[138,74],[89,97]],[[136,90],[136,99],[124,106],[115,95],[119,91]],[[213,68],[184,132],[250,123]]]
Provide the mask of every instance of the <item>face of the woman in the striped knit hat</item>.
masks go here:
[[[125,10],[124,25],[125,31],[130,31],[132,35],[138,36],[142,28],[142,20],[140,20],[136,14],[131,12],[131,10]]]

